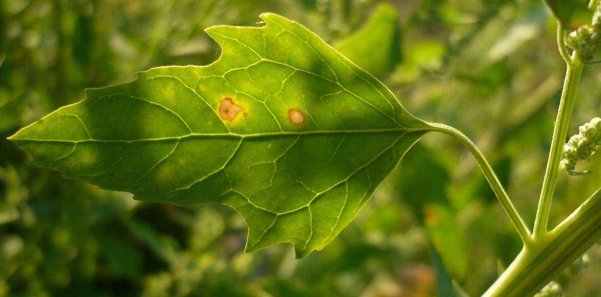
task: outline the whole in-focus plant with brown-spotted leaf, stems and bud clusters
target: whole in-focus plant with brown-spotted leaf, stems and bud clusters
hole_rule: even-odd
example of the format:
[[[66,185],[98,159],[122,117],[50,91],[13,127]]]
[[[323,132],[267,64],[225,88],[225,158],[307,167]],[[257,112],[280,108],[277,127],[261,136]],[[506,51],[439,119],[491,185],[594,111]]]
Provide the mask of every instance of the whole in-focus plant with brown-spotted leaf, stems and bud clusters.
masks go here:
[[[291,242],[301,258],[340,233],[421,136],[447,133],[474,155],[523,240],[484,296],[560,296],[552,280],[582,266],[576,260],[601,237],[601,191],[548,230],[560,167],[582,174],[576,162],[601,144],[599,118],[564,144],[582,68],[601,43],[601,8],[566,36],[566,3],[546,2],[567,74],[532,232],[466,136],[413,117],[374,76],[271,13],[261,28],[207,29],[222,46],[209,66],[159,67],[87,90],[10,139],[65,177],[138,200],[227,204],[248,222],[246,251]]]

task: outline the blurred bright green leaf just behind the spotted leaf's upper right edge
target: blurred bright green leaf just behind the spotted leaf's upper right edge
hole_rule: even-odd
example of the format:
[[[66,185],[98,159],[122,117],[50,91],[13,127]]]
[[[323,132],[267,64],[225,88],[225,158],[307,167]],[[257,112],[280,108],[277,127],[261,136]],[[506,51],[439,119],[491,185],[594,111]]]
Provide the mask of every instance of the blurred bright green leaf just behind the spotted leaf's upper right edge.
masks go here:
[[[373,75],[391,72],[401,62],[401,29],[394,8],[380,5],[367,24],[337,49]]]

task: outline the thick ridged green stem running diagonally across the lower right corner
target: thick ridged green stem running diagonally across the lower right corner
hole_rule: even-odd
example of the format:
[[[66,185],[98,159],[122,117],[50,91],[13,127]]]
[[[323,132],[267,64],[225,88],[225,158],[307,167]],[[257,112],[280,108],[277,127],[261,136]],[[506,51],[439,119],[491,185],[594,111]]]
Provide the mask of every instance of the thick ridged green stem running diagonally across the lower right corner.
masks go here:
[[[557,228],[524,246],[482,297],[532,296],[601,238],[601,189]]]

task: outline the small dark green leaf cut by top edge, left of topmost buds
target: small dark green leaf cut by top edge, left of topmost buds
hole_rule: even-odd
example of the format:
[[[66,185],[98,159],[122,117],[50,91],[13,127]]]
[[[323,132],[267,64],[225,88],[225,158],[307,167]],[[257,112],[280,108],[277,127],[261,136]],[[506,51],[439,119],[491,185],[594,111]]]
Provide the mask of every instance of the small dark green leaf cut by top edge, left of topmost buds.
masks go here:
[[[593,13],[588,10],[589,0],[543,0],[564,28],[576,28],[590,22]]]

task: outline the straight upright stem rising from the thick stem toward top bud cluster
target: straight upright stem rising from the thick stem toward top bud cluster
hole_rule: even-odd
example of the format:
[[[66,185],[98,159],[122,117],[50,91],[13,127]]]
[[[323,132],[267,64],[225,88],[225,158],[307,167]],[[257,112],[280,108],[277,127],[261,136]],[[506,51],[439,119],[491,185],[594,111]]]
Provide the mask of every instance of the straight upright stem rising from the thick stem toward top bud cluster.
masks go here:
[[[557,120],[553,129],[553,138],[551,140],[551,152],[547,161],[547,169],[545,171],[545,179],[543,180],[543,189],[540,193],[538,201],[538,209],[536,211],[536,219],[534,220],[534,238],[545,236],[547,233],[547,225],[549,222],[549,209],[551,208],[551,200],[557,183],[557,176],[560,171],[561,155],[563,154],[564,143],[566,142],[567,129],[570,124],[570,116],[576,98],[576,89],[582,74],[584,64],[572,55],[572,63],[567,65],[566,79],[564,88],[561,92],[560,107],[557,112]]]

